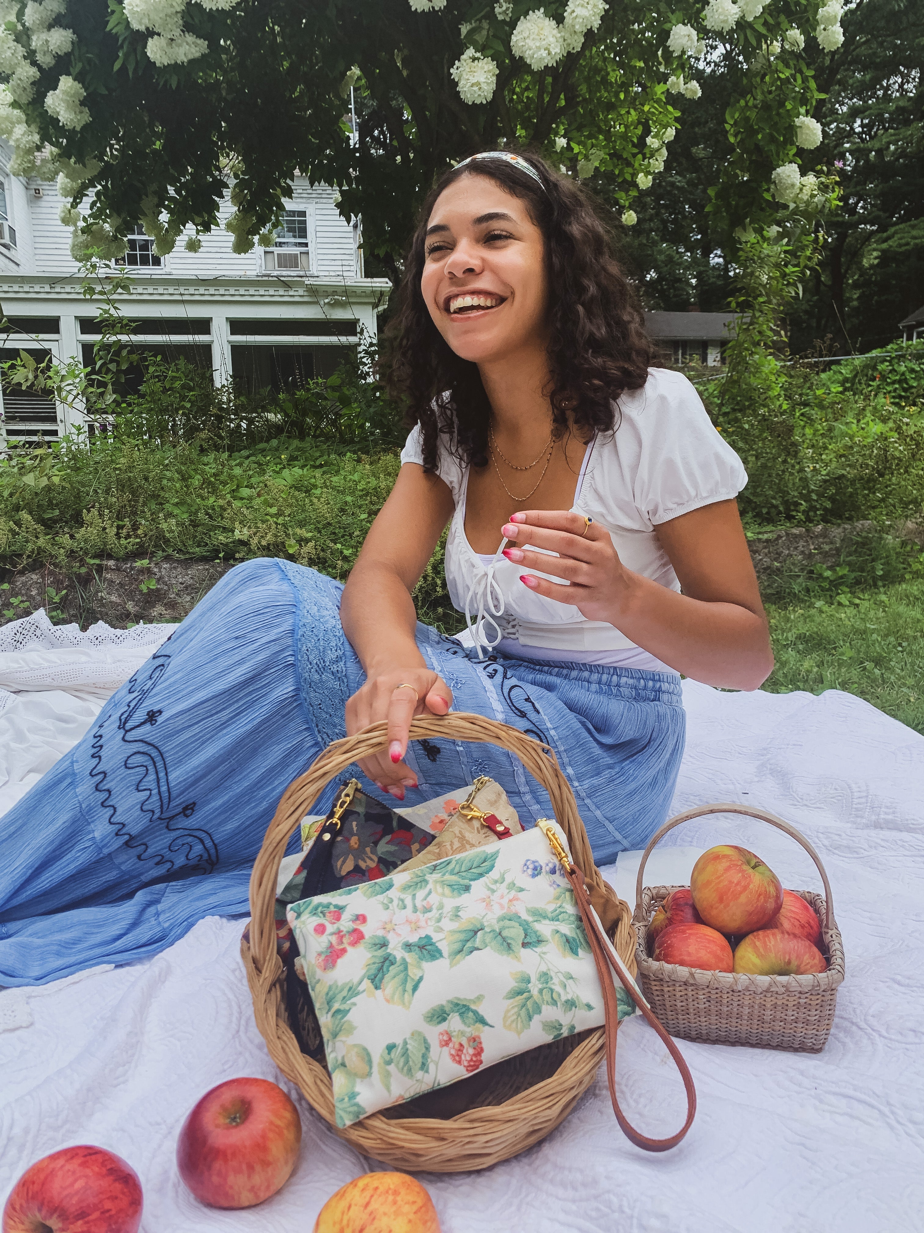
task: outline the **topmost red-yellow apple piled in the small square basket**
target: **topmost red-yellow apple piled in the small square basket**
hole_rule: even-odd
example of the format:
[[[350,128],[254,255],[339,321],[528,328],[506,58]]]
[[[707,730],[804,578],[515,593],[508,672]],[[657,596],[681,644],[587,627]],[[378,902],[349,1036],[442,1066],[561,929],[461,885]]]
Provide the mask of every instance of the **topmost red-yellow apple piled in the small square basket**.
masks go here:
[[[690,890],[706,925],[722,933],[750,933],[782,907],[774,870],[747,848],[721,843],[703,852],[690,874]]]

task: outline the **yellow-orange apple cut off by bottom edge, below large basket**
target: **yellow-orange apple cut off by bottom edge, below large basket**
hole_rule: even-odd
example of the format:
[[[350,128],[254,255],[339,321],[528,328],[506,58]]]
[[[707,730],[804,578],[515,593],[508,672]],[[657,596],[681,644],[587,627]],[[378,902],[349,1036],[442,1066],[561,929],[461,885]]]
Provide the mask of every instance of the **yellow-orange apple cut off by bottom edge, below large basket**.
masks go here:
[[[330,1196],[312,1233],[440,1233],[440,1221],[407,1173],[365,1173]]]

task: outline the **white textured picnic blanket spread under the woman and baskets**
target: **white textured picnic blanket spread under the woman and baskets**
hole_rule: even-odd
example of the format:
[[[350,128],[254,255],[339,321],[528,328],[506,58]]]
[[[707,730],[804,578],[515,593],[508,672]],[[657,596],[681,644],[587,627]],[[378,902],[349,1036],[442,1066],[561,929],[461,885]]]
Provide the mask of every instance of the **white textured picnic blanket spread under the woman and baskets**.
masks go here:
[[[81,635],[26,621],[0,630],[0,813],[170,631]],[[685,682],[684,697],[674,808],[763,805],[798,826],[827,864],[848,961],[828,1047],[801,1055],[681,1042],[699,1112],[664,1155],[622,1137],[601,1070],[558,1131],[517,1159],[420,1175],[444,1233],[924,1228],[924,739],[838,692],[724,694]],[[646,882],[683,880],[697,851],[729,840],[764,856],[786,885],[821,889],[791,841],[729,815],[674,831]],[[627,853],[609,870],[623,896],[637,863]],[[277,1233],[309,1229],[339,1186],[383,1168],[282,1080],[304,1127],[286,1186],[244,1212],[205,1208],[185,1190],[176,1136],[198,1096],[234,1075],[280,1080],[254,1026],[240,930],[209,917],[155,959],[0,993],[0,1202],[33,1160],[96,1143],[140,1175],[144,1233]],[[649,1134],[676,1128],[680,1081],[638,1018],[620,1031],[618,1070],[632,1120]]]

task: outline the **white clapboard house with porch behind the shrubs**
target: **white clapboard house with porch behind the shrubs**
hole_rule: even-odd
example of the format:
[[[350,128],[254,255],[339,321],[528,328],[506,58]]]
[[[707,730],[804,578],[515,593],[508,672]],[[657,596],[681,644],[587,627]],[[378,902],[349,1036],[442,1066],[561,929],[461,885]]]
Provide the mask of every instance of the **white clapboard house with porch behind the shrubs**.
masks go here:
[[[11,150],[0,141],[0,360],[20,350],[87,363],[99,339],[99,298],[81,293],[70,256],[70,228],[58,218],[54,184],[7,171]],[[222,223],[232,206],[222,205]],[[191,233],[190,233],[191,234]],[[297,178],[285,226],[270,249],[232,253],[229,232],[202,237],[198,253],[184,237],[169,256],[154,253],[138,228],[124,265],[133,279],[118,301],[139,322],[133,343],[208,366],[221,385],[240,379],[251,388],[281,388],[291,380],[331,372],[360,330],[376,337],[376,314],[391,284],[362,275],[359,222],[346,223],[334,190]],[[48,440],[80,417],[53,398],[0,382],[0,448],[7,440]]]

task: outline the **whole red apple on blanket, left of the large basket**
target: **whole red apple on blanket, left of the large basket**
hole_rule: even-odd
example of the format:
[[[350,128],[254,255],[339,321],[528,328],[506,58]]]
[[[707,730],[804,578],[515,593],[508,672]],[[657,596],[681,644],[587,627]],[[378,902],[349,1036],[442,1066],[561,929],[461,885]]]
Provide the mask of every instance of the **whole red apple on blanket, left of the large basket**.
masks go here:
[[[301,1143],[298,1110],[277,1084],[228,1079],[182,1123],[176,1164],[203,1203],[253,1207],[288,1179]]]

